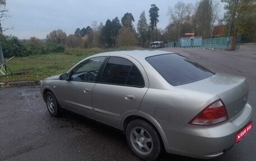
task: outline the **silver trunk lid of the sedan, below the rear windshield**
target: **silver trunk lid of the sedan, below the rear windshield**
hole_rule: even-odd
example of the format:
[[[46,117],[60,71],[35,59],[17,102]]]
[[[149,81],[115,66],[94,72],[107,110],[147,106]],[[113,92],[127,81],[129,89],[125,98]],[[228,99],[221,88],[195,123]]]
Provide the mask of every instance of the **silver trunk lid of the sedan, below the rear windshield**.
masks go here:
[[[216,73],[216,75],[207,79],[181,85],[180,87],[218,95],[225,104],[228,119],[230,120],[237,117],[243,111],[248,100],[249,89],[245,77],[242,76]]]

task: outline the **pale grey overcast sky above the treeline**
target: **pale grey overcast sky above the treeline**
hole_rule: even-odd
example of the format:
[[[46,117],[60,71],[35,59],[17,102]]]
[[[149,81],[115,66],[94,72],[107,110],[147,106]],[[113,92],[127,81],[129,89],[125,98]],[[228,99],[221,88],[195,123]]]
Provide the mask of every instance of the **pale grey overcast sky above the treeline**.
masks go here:
[[[145,11],[149,24],[149,8],[156,4],[159,8],[158,27],[164,29],[170,22],[167,15],[168,7],[173,7],[177,1],[161,0],[6,0],[8,14],[1,21],[3,27],[13,27],[4,32],[6,35],[14,35],[20,39],[30,39],[31,36],[44,39],[47,34],[56,29],[62,29],[65,33],[74,34],[77,28],[92,27],[92,22],[97,21],[103,25],[107,19],[112,20],[116,16],[121,21],[126,12],[132,13],[135,22],[139,20],[141,12]],[[184,1],[195,4],[199,0]]]

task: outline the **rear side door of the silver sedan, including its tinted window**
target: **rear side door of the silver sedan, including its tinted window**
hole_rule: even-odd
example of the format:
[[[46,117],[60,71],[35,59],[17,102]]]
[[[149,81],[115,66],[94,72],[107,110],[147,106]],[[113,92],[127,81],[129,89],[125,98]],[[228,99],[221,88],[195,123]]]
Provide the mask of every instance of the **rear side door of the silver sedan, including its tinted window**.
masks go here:
[[[100,81],[93,89],[97,121],[120,127],[122,117],[139,110],[148,90],[148,78],[141,65],[130,57],[108,59]]]

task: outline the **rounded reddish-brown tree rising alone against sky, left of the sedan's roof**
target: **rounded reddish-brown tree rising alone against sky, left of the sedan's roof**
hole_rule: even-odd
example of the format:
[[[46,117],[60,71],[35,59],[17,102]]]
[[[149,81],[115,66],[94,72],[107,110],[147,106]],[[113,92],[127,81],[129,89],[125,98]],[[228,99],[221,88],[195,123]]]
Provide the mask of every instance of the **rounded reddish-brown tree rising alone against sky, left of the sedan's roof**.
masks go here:
[[[47,34],[47,42],[56,44],[66,44],[67,34],[61,29],[53,30],[51,33]]]

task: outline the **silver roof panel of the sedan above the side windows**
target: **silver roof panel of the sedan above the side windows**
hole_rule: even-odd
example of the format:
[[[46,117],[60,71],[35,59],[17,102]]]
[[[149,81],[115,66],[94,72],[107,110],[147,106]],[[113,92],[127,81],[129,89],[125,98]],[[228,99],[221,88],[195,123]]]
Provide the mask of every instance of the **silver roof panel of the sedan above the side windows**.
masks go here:
[[[141,58],[144,59],[151,56],[157,56],[161,54],[170,54],[170,53],[172,52],[168,52],[165,50],[122,50],[122,51],[106,52],[106,53],[100,53],[100,54],[124,54],[127,56],[131,56],[135,59],[141,59]]]

